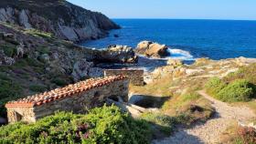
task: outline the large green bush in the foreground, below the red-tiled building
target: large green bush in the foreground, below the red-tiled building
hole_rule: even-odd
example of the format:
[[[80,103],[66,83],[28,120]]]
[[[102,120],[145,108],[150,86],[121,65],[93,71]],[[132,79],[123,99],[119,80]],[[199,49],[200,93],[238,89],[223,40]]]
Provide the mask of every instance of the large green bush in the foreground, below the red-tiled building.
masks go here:
[[[117,107],[94,108],[88,115],[60,112],[34,124],[0,128],[0,143],[149,143],[146,122],[135,120]]]

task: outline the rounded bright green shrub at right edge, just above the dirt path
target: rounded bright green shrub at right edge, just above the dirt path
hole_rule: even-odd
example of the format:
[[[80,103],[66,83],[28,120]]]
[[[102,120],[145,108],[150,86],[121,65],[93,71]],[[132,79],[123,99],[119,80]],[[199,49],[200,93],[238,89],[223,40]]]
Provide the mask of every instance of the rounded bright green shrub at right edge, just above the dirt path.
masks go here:
[[[254,86],[245,79],[231,82],[222,88],[217,97],[225,102],[248,101],[254,96]]]

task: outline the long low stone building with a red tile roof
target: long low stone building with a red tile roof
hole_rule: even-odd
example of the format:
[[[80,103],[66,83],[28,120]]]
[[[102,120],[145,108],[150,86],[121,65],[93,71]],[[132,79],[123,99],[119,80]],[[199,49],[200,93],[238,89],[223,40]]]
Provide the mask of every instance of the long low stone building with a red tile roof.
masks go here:
[[[127,101],[128,87],[129,79],[124,76],[93,78],[10,101],[5,105],[8,122],[35,122],[58,110],[84,113],[88,108],[102,106],[106,98],[122,98]]]

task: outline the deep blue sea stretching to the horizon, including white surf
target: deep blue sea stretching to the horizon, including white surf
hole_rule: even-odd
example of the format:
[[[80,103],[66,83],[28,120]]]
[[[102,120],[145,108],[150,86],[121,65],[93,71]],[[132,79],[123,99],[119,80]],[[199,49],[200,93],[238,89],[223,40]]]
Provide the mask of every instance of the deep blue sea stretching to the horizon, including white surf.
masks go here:
[[[110,31],[100,40],[80,45],[103,48],[110,45],[136,47],[150,40],[169,46],[170,57],[223,59],[256,57],[256,21],[113,19],[122,29]],[[118,35],[119,37],[114,37]]]

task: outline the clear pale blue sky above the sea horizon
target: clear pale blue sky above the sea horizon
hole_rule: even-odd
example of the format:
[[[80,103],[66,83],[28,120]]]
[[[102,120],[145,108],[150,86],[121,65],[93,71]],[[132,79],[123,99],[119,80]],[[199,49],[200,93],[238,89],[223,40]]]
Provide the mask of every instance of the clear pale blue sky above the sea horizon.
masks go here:
[[[111,18],[256,20],[256,0],[68,0]]]

